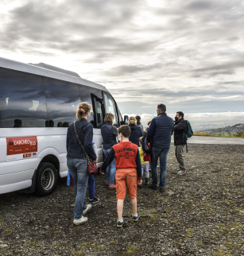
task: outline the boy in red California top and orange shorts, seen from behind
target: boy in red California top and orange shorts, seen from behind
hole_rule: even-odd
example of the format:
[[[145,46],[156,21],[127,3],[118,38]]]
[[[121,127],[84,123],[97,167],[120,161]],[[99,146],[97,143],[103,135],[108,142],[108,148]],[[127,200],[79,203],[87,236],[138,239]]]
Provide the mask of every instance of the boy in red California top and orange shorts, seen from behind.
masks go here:
[[[126,198],[126,188],[130,197],[133,220],[137,221],[140,218],[140,213],[137,211],[137,184],[142,182],[141,157],[137,145],[129,141],[130,132],[129,126],[124,125],[118,128],[118,138],[121,139],[121,142],[113,145],[101,167],[101,170],[105,170],[115,157],[117,168],[115,175],[118,212],[117,227],[122,227],[125,223],[122,218],[122,211]]]

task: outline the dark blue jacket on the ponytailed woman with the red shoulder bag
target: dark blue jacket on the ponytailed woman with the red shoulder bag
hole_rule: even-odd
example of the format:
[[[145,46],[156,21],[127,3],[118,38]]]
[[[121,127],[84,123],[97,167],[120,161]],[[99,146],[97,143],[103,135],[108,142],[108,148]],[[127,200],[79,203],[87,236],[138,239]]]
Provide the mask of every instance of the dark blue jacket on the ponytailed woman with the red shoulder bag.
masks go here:
[[[87,122],[86,118],[76,120],[76,131],[79,136],[79,140],[82,143],[87,155],[92,159],[96,159],[95,151],[92,147],[93,138],[93,126]],[[86,155],[83,152],[82,146],[79,145],[79,141],[76,138],[76,132],[74,128],[74,122],[68,126],[67,139],[66,139],[67,157],[73,159],[86,159]]]

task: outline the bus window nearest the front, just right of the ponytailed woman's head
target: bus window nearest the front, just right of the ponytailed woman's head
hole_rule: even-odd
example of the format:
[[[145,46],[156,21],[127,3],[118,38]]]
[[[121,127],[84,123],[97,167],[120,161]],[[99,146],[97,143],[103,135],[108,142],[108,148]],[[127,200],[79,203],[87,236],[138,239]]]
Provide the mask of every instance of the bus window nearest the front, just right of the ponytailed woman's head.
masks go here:
[[[102,91],[79,84],[79,95],[81,102],[89,103],[92,108],[87,121],[91,122],[94,128],[100,128],[104,123]]]

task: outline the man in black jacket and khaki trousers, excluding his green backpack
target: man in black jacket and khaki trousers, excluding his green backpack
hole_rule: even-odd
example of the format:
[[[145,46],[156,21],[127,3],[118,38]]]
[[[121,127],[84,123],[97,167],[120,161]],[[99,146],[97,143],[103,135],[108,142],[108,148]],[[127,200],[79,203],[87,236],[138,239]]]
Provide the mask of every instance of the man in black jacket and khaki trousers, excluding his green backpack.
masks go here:
[[[176,121],[174,127],[174,144],[176,146],[176,159],[180,165],[179,175],[185,175],[184,167],[184,146],[187,144],[186,134],[188,132],[187,121],[184,120],[184,113],[178,111],[176,113]]]

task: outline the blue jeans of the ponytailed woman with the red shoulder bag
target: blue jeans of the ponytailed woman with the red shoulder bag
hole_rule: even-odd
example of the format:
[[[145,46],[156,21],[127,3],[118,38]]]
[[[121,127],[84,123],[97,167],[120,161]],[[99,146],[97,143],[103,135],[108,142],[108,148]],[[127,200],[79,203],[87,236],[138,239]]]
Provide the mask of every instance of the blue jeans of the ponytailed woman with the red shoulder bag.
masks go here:
[[[85,203],[89,177],[87,159],[67,158],[67,165],[75,183],[76,202],[74,208],[74,219],[80,219],[83,210],[87,208],[87,204]]]

